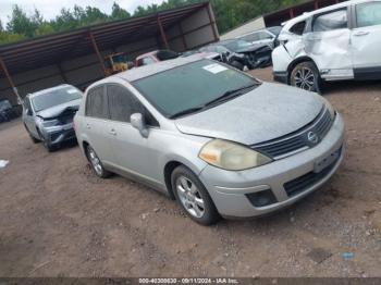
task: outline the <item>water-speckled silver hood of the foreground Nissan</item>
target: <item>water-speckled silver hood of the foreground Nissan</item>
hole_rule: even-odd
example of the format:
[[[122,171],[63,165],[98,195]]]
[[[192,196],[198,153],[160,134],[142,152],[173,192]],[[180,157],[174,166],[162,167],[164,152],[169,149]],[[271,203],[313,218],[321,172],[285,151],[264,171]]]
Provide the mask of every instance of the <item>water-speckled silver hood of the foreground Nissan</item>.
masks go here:
[[[180,132],[254,145],[310,123],[322,102],[303,89],[262,83],[256,89],[206,111],[175,120]]]

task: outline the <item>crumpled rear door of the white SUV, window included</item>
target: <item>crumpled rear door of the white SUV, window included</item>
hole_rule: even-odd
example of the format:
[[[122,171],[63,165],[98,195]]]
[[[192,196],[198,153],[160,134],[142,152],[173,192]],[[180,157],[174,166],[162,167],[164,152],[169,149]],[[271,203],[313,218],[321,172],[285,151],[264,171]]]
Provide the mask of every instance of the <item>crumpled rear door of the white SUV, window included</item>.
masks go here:
[[[325,79],[354,77],[351,49],[348,8],[317,14],[311,30],[304,35],[305,51]]]

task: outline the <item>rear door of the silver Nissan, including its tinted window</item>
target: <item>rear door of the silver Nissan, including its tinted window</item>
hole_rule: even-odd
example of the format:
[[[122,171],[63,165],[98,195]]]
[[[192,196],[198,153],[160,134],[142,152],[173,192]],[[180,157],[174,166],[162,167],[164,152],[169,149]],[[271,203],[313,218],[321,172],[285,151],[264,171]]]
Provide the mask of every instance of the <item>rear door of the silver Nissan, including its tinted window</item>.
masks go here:
[[[105,85],[96,86],[87,92],[84,121],[83,127],[89,144],[102,163],[113,163],[115,158],[110,147],[109,107]]]

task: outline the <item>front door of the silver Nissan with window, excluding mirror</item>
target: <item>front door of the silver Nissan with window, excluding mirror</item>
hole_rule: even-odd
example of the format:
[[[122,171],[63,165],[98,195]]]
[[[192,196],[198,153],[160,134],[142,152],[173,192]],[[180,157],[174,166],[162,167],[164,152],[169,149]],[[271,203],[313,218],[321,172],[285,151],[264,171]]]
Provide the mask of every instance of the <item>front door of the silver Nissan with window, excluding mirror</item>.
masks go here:
[[[158,152],[150,147],[155,145],[155,132],[159,131],[157,121],[125,86],[108,84],[107,94],[112,121],[108,131],[112,134],[110,146],[116,157],[115,166],[146,182],[158,183],[153,178],[159,169]],[[131,125],[130,119],[134,113],[142,113],[146,119],[146,124],[150,127],[147,138]]]

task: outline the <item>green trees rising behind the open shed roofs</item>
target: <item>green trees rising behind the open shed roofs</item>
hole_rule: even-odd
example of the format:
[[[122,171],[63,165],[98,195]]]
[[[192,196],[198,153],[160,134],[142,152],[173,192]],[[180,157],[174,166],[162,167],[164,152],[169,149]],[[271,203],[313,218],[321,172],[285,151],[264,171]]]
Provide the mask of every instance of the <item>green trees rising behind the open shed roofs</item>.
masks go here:
[[[210,0],[220,33],[224,33],[261,14],[276,11],[283,7],[302,1]],[[205,0],[167,0],[161,4],[139,5],[132,14],[121,8],[116,2],[112,4],[110,14],[106,14],[95,7],[83,8],[81,5],[74,5],[72,9],[62,8],[60,13],[49,21],[45,20],[44,15],[37,9],[35,9],[32,15],[28,15],[20,5],[15,4],[13,5],[11,15],[9,15],[7,25],[3,25],[0,21],[0,45],[110,21],[142,16],[197,2],[205,2]]]

